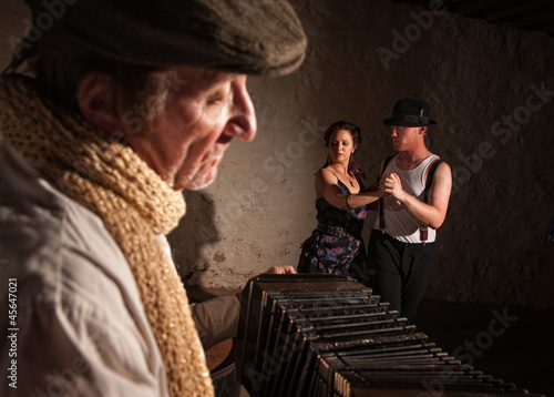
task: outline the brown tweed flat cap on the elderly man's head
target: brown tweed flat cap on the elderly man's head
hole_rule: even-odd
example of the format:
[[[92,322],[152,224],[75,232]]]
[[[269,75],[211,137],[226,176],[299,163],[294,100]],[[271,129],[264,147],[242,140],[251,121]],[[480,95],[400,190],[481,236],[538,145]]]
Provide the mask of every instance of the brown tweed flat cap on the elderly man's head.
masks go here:
[[[286,0],[25,0],[41,44],[145,67],[281,75],[306,34]],[[42,42],[43,41],[43,42]]]

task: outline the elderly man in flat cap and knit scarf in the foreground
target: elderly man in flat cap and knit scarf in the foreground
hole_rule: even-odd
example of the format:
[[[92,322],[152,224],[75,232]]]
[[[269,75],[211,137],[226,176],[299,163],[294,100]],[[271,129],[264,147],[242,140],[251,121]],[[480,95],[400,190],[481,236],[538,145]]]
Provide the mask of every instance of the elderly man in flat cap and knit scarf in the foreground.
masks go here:
[[[63,6],[0,81],[1,394],[211,396],[165,235],[304,31],[280,0]]]

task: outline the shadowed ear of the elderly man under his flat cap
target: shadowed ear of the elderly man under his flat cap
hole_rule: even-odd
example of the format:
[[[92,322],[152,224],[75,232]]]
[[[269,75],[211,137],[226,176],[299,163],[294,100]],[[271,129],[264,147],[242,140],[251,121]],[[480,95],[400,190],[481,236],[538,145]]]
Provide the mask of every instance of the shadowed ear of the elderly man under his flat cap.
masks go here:
[[[81,80],[76,99],[81,114],[92,124],[112,133],[126,132],[121,110],[116,103],[113,78],[107,74],[89,72]]]

